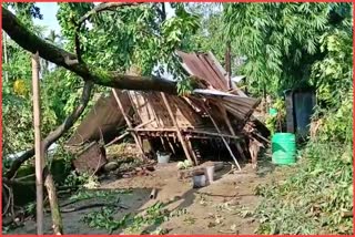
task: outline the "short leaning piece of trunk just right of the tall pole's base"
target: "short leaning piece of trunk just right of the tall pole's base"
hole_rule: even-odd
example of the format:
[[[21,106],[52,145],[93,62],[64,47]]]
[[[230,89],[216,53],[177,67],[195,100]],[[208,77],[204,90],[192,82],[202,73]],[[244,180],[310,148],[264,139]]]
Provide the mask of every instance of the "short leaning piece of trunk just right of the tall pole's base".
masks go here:
[[[52,223],[53,223],[53,233],[54,235],[63,235],[63,223],[62,217],[60,215],[55,185],[53,182],[53,177],[48,168],[44,171],[44,185],[48,193],[49,205],[51,207]]]

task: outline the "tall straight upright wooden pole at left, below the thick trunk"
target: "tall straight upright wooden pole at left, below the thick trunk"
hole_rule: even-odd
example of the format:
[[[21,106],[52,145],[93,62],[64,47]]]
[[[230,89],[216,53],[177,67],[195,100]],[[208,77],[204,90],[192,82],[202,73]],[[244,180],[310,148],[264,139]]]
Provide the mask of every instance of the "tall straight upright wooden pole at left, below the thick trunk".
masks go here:
[[[43,235],[43,148],[41,143],[41,105],[39,82],[39,54],[32,55],[32,87],[33,87],[33,125],[36,154],[36,197],[37,197],[37,234]]]

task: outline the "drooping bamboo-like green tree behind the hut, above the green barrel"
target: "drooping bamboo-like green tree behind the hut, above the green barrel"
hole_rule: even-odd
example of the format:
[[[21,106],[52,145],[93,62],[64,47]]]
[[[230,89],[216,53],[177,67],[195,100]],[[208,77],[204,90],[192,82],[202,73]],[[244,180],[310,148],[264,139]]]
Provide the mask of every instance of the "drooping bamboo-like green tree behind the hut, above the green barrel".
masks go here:
[[[224,4],[225,33],[236,52],[247,58],[242,70],[251,87],[277,95],[307,85],[312,64],[324,56],[320,38],[334,24],[332,14],[344,19],[336,13],[342,6],[346,4]]]

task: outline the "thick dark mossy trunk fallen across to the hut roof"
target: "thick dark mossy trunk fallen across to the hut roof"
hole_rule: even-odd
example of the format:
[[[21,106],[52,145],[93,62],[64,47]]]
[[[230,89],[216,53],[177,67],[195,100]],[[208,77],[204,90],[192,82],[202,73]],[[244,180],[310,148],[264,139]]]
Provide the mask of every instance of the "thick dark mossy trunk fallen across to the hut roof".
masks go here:
[[[176,83],[173,81],[158,76],[125,75],[119,72],[100,70],[93,65],[87,65],[83,62],[79,62],[75,54],[39,38],[3,7],[2,29],[24,50],[32,53],[38,51],[42,59],[63,66],[84,80],[92,81],[95,84],[115,89],[162,91],[170,94],[176,93]]]

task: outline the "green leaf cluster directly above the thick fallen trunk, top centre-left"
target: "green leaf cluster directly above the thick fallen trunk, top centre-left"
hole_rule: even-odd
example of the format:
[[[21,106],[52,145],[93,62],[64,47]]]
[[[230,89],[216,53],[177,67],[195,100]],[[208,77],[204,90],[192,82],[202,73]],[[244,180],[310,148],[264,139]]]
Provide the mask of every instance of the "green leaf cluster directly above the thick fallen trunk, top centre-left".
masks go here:
[[[74,22],[91,7],[91,3],[60,4],[58,20],[62,33],[71,42],[71,50],[74,48]],[[173,52],[182,48],[184,38],[199,24],[197,18],[187,13],[182,4],[174,8],[175,17],[169,19],[162,17],[163,10],[156,3],[94,14],[80,31],[84,61],[110,71],[126,71],[134,64],[142,75],[150,75],[155,66],[162,72],[165,65],[165,70],[179,79],[182,71]]]

